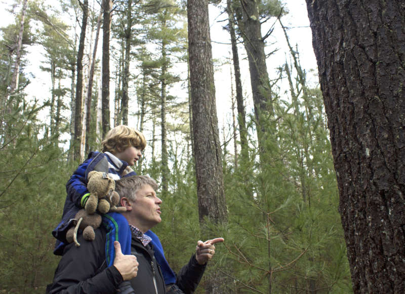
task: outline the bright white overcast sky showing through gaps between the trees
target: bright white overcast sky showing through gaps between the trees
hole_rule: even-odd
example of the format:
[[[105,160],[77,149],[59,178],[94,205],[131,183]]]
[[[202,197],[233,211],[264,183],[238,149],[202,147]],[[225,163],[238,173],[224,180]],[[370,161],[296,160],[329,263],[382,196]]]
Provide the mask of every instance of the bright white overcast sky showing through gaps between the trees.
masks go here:
[[[293,46],[298,44],[301,65],[307,71],[310,69],[316,69],[316,60],[312,50],[311,30],[309,27],[305,0],[284,0],[283,2],[289,11],[289,14],[282,18],[282,22],[286,27],[289,27],[288,34],[290,36],[290,43]],[[15,3],[15,1],[3,0],[2,3],[9,7],[11,4]],[[0,26],[6,26],[11,21],[14,21],[14,17],[7,13],[4,9],[2,12],[0,12],[0,16]],[[227,16],[225,14],[220,14],[220,10],[218,8],[210,6],[213,58],[217,61],[215,63],[215,83],[220,129],[221,125],[229,122],[231,118],[230,65],[227,64],[219,66],[219,64],[225,63],[230,58],[231,48],[229,45],[229,34],[222,29],[222,26],[227,23],[227,21],[223,21],[226,19],[226,17]],[[270,20],[263,25],[263,35],[267,32],[268,26],[272,25],[273,23],[274,20]],[[267,59],[267,68],[270,78],[275,78],[276,68],[285,62],[286,52],[288,52],[284,33],[282,32],[278,23],[275,23],[274,31],[267,40],[267,44],[271,43],[274,43],[274,45],[269,45],[266,48],[266,51],[270,52],[274,49],[278,49],[278,51]],[[42,95],[50,94],[50,91],[45,90],[50,90],[49,73],[45,73],[39,69],[39,66],[43,65],[41,61],[45,60],[42,55],[43,52],[39,46],[30,48],[30,52],[31,53],[28,57],[29,64],[25,70],[30,76],[31,84],[26,90],[31,97],[47,99],[49,97],[42,97]],[[250,94],[249,68],[246,60],[246,52],[241,45],[239,45],[239,58],[241,64],[242,83],[244,84],[244,91],[246,94],[245,99],[247,111],[249,112],[252,111],[253,108],[252,97]],[[313,84],[317,83],[316,77],[312,79],[311,77],[308,77],[308,79]],[[184,96],[185,94],[182,95]]]

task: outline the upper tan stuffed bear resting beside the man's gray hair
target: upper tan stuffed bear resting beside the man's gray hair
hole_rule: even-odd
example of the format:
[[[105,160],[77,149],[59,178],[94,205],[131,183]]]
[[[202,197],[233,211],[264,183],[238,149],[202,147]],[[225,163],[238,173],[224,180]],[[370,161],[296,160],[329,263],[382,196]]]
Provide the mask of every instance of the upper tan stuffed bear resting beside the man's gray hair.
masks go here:
[[[99,211],[100,213],[123,212],[125,207],[116,207],[119,195],[115,190],[115,181],[108,177],[107,173],[91,171],[88,175],[87,190],[90,196],[87,199],[85,209],[88,213]]]

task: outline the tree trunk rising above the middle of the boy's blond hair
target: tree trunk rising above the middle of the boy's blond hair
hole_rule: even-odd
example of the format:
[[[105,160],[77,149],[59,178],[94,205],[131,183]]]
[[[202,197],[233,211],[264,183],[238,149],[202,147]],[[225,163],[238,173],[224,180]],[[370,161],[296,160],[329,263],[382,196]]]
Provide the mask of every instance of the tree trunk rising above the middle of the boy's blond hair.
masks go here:
[[[128,125],[128,81],[130,76],[130,54],[132,38],[132,0],[128,0],[127,8],[127,28],[125,29],[125,62],[123,74],[123,96],[121,98],[121,118],[123,124]]]

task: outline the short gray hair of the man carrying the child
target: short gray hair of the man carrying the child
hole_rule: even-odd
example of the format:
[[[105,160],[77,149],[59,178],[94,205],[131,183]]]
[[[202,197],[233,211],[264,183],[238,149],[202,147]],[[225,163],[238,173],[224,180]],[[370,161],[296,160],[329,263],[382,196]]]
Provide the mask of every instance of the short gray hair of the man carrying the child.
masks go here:
[[[149,185],[155,191],[159,187],[156,181],[150,176],[133,175],[116,180],[115,191],[119,194],[119,199],[127,197],[128,199],[135,201],[136,193],[144,185]]]

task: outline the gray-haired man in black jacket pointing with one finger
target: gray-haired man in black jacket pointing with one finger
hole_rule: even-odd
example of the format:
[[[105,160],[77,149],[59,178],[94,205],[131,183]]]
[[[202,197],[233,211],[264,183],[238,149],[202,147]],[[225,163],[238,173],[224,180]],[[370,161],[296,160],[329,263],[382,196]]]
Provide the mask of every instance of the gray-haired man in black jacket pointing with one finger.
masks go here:
[[[198,241],[196,252],[179,271],[176,282],[165,285],[154,254],[154,250],[163,252],[163,248],[152,246],[151,238],[145,234],[161,222],[162,200],[156,195],[157,188],[156,181],[149,176],[117,180],[115,190],[120,195],[120,205],[127,208],[121,213],[127,222],[120,223],[119,227],[121,231],[128,229],[130,232],[131,254],[123,254],[121,244],[113,241],[113,262],[108,266],[106,244],[111,235],[108,229],[104,226],[97,229],[96,239],[92,242],[79,236],[80,247],[70,244],[71,248],[62,256],[50,293],[115,293],[122,282],[128,284],[128,292],[121,284],[120,293],[194,292],[207,263],[215,254],[215,244],[224,239]]]

